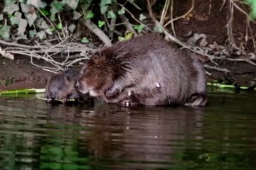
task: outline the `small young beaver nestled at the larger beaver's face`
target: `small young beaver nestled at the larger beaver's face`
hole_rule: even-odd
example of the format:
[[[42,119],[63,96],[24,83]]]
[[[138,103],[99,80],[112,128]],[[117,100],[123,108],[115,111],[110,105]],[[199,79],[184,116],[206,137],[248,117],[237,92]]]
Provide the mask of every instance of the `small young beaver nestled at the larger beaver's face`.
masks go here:
[[[79,72],[75,69],[65,69],[59,74],[53,75],[46,85],[46,98],[48,101],[62,100],[63,103],[69,98],[87,101],[88,94],[80,94],[75,89],[75,81],[78,79]]]

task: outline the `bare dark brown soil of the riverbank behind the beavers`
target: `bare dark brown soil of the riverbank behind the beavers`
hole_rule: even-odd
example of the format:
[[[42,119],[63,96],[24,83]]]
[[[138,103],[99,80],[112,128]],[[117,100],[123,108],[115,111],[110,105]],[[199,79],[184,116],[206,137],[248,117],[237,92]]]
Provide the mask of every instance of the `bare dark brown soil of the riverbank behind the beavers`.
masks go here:
[[[220,11],[223,0],[198,0],[195,1],[191,16],[176,21],[176,35],[181,40],[186,41],[188,33],[203,33],[207,35],[209,43],[217,42],[219,45],[227,43],[227,28],[228,23],[228,2]],[[186,13],[191,8],[191,1],[182,0],[174,1],[174,18]],[[243,8],[244,9],[244,8]],[[247,9],[244,9],[247,11]],[[256,33],[256,24],[251,24],[253,35]],[[246,16],[234,10],[233,19],[233,37],[236,45],[245,42],[246,35]],[[250,52],[254,48],[252,39],[249,38],[245,45],[246,50]],[[43,60],[38,60],[38,64],[47,65]],[[230,73],[217,72],[212,69],[207,70],[211,73],[208,81],[213,79],[221,79],[230,83],[238,82],[241,85],[249,86],[251,81],[256,81],[256,67],[245,62],[218,62],[219,67],[229,69]],[[209,62],[210,63],[210,62]],[[30,63],[28,57],[16,57],[16,60],[8,60],[0,57],[0,91],[9,89],[24,89],[24,88],[44,88],[48,78],[52,75],[39,67],[35,67]]]

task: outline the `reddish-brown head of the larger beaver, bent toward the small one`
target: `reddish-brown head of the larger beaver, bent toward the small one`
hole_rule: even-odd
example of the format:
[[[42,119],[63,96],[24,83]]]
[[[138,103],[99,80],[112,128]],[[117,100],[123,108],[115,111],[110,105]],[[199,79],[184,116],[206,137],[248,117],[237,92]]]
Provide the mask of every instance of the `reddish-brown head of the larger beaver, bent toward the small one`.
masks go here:
[[[76,89],[82,94],[90,96],[102,96],[114,81],[114,69],[112,62],[105,53],[95,52],[90,60],[82,67]]]

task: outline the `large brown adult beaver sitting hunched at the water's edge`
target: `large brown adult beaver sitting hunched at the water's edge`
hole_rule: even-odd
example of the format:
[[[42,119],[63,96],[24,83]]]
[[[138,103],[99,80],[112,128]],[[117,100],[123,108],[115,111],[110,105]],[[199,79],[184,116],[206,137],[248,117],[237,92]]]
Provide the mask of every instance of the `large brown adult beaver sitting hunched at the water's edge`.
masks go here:
[[[76,88],[122,105],[205,106],[206,77],[196,55],[157,35],[142,35],[95,52]]]

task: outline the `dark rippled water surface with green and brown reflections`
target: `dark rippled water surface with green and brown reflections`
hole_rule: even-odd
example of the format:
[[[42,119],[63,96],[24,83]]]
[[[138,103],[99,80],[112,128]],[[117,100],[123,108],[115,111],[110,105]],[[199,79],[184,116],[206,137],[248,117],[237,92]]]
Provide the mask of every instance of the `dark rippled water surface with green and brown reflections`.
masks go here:
[[[206,108],[0,96],[0,169],[256,169],[256,94]]]

